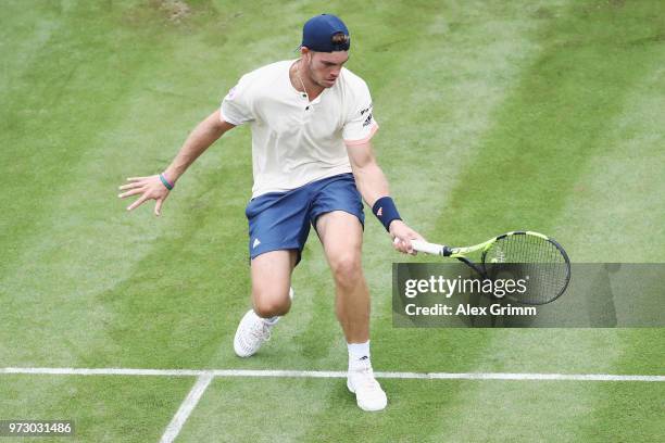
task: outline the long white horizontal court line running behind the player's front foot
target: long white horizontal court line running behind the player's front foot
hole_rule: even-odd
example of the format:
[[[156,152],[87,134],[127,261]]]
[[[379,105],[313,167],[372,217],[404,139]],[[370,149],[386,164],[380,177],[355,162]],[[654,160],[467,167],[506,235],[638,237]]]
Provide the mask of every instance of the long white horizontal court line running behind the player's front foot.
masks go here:
[[[160,377],[286,377],[346,378],[346,371],[268,369],[126,369],[126,368],[0,368],[2,374],[54,376],[160,376]],[[562,381],[665,381],[665,376],[623,376],[612,374],[528,374],[528,372],[374,372],[379,379],[429,380],[562,380]]]

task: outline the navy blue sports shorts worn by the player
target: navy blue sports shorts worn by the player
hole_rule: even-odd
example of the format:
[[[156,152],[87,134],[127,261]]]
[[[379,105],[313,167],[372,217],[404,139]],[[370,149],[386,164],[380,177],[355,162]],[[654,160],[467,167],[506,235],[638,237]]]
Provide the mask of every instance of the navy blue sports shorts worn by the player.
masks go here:
[[[318,216],[331,211],[353,214],[364,227],[363,200],[353,174],[340,174],[287,192],[268,192],[252,199],[244,211],[249,220],[250,257],[269,251],[297,250],[300,262],[310,225],[316,229]]]

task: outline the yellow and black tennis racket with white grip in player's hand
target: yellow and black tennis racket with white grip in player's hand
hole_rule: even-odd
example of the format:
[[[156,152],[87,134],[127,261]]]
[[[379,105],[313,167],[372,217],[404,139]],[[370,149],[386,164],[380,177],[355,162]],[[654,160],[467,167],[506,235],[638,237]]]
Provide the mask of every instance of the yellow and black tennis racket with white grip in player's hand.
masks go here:
[[[484,279],[526,278],[524,293],[506,298],[518,303],[541,305],[559,299],[570,281],[568,254],[555,240],[532,231],[507,232],[466,248],[411,240],[413,249],[427,254],[457,258],[475,269]],[[479,253],[479,263],[468,258]]]

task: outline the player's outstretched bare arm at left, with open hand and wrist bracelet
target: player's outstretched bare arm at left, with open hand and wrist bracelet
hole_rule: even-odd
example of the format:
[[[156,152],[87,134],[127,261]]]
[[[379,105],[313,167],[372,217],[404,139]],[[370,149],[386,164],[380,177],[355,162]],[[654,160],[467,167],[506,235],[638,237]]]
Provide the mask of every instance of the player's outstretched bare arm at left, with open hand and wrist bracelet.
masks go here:
[[[178,154],[171,162],[171,165],[162,174],[127,178],[128,183],[120,187],[120,190],[124,192],[118,194],[118,197],[126,199],[127,197],[140,194],[134,203],[127,206],[127,211],[140,206],[148,200],[155,200],[154,215],[159,216],[162,212],[162,204],[178,178],[199,155],[222,137],[224,132],[234,127],[234,125],[221,118],[219,110],[217,110],[197,125],[195,130],[187,137],[187,140],[185,140]]]

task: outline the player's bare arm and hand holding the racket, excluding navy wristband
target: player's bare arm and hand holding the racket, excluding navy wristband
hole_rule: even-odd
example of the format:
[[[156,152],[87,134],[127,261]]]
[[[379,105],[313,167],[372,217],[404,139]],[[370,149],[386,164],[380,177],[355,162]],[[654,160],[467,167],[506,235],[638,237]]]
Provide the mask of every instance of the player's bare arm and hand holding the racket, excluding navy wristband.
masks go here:
[[[363,195],[363,200],[373,207],[374,204],[381,198],[390,195],[388,180],[376,162],[372,143],[367,141],[363,144],[355,144],[347,148],[349,152],[349,161],[355,177],[357,190]],[[394,248],[404,253],[413,253],[411,240],[424,240],[415,230],[411,229],[401,219],[396,219],[390,223],[389,232],[396,241]]]

